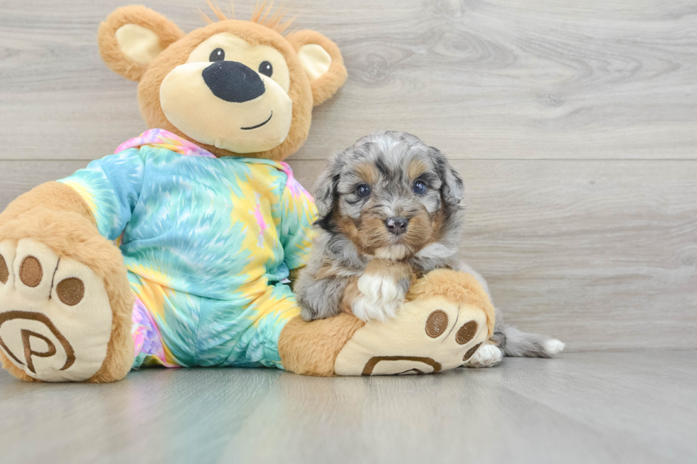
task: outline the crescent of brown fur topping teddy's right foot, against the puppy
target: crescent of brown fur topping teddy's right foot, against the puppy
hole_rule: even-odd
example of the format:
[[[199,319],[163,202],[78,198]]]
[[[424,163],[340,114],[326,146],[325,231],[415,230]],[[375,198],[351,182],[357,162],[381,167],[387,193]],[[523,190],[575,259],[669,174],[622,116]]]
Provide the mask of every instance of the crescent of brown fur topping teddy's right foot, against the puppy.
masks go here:
[[[494,305],[474,276],[449,269],[430,271],[409,288],[406,300],[423,300],[437,296],[454,303],[479,306],[486,313],[488,337],[494,334]]]

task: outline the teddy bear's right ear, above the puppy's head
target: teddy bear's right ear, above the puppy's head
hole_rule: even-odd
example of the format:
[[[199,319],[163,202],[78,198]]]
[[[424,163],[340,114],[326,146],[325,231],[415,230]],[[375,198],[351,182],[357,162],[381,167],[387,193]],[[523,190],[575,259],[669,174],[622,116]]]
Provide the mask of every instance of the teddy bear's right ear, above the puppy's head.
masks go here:
[[[314,106],[326,102],[346,82],[346,67],[339,47],[315,31],[297,31],[287,39],[310,80]]]

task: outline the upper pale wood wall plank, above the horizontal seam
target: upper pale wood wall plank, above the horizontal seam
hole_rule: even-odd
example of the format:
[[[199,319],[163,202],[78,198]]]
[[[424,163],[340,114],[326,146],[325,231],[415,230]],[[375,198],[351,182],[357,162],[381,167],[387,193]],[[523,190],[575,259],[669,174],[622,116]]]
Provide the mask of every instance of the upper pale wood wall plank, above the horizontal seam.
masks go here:
[[[145,129],[136,84],[97,53],[115,0],[0,0],[4,159],[92,159]],[[220,2],[224,4],[224,2]],[[237,2],[240,18],[254,2]],[[205,2],[149,0],[185,31]],[[376,129],[459,159],[696,158],[693,0],[294,0],[349,81],[296,159]]]

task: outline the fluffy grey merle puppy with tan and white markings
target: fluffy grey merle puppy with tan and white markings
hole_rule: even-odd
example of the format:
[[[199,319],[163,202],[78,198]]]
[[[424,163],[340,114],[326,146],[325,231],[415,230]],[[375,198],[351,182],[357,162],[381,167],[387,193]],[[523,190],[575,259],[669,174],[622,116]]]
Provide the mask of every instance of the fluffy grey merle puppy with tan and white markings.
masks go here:
[[[472,274],[457,258],[464,225],[462,178],[437,149],[411,134],[379,131],[337,153],[315,186],[319,238],[295,292],[302,318],[341,312],[362,320],[393,317],[413,281],[434,269]],[[550,357],[559,340],[496,327],[467,365],[486,367],[504,355]]]

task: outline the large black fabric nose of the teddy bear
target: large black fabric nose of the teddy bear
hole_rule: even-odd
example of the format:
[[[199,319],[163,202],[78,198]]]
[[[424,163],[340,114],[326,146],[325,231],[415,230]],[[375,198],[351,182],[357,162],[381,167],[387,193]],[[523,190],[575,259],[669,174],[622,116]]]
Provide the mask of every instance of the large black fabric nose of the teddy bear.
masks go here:
[[[203,81],[225,102],[249,102],[265,92],[259,74],[236,61],[216,61],[203,70]]]

